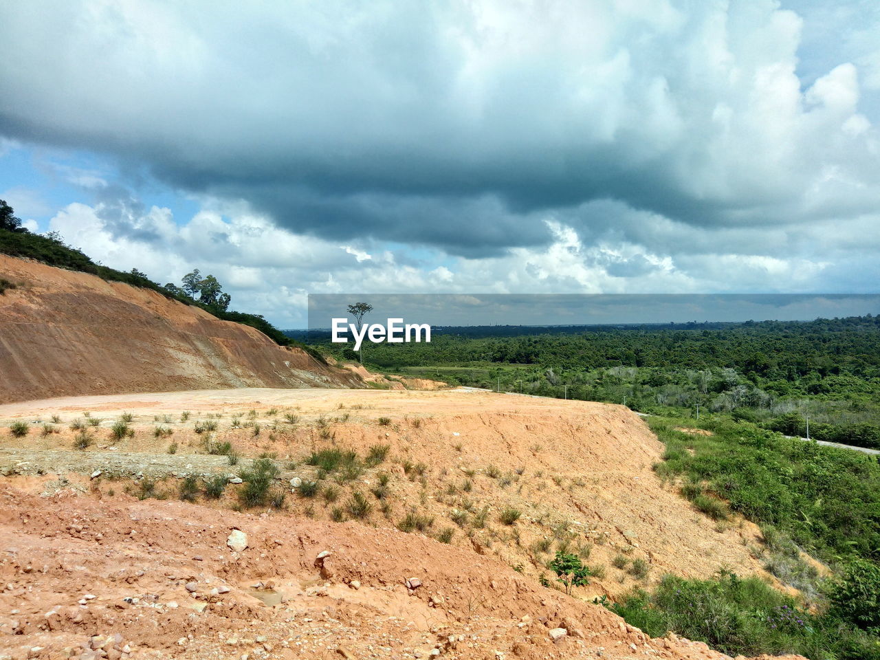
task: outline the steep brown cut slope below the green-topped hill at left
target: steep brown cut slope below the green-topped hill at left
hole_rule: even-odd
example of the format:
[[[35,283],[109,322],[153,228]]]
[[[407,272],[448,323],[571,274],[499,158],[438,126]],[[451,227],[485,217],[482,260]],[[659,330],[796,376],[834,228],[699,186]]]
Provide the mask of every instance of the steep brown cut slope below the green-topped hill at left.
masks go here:
[[[356,375],[155,291],[0,254],[0,403],[223,387],[358,386]]]

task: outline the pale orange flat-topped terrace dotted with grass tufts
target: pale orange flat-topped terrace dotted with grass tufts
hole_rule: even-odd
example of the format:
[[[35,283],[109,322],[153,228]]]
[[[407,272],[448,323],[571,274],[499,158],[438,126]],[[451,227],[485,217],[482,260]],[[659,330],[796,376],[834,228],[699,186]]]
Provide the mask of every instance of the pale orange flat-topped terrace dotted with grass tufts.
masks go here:
[[[123,411],[133,435],[114,439]],[[33,424],[53,415],[52,432]],[[32,426],[0,435],[6,473],[101,469],[122,481],[116,492],[143,494],[146,480],[151,494],[178,497],[184,475],[232,478],[248,458],[268,457],[279,470],[273,493],[285,495],[283,510],[263,507],[273,517],[400,528],[532,578],[552,579],[546,564],[566,550],[594,572],[579,598],[616,597],[664,573],[707,578],[729,568],[771,579],[758,559],[758,528],[717,522],[664,484],[652,469],[663,444],[621,406],[473,390],[263,389],[0,407],[0,424],[15,420]],[[69,425],[89,420],[97,421],[85,431],[93,442],[77,451],[79,431]],[[237,488],[198,501],[239,507]],[[356,506],[356,494],[366,506]]]

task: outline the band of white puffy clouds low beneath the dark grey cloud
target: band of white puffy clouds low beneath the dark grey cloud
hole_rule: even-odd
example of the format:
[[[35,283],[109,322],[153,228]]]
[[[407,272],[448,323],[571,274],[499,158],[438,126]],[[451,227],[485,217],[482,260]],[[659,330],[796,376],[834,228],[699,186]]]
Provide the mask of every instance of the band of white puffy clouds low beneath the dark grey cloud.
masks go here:
[[[732,242],[651,251],[612,231],[583,240],[570,218],[545,221],[551,238],[543,246],[482,258],[426,252],[416,259],[404,248],[384,249],[368,239],[339,246],[278,227],[248,209],[221,214],[216,209],[223,202],[211,206],[187,219],[155,206],[136,215],[131,209],[137,205],[72,203],[48,229],[107,266],[136,267],[160,283],[180,282],[193,268],[216,275],[234,309],[264,314],[283,327],[304,326],[308,293],[869,291],[880,275],[871,246],[849,253],[855,271],[840,268],[837,255],[847,245],[825,244],[790,257],[743,255]],[[674,224],[666,231],[671,245]],[[856,272],[861,282],[854,281]]]

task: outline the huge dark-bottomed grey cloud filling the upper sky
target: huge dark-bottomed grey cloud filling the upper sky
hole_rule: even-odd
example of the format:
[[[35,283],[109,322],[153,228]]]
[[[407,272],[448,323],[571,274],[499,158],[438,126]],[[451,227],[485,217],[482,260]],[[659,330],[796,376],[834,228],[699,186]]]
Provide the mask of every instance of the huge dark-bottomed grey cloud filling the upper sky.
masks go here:
[[[0,134],[244,200],[322,250],[392,241],[486,264],[568,245],[609,273],[656,275],[679,240],[761,256],[767,237],[792,245],[876,212],[880,144],[862,107],[876,70],[854,30],[852,61],[803,84],[812,25],[773,0],[6,4]],[[150,216],[105,193],[107,218]],[[235,243],[246,225],[187,228],[215,259],[231,245],[254,259]],[[150,223],[107,231],[161,238]],[[641,253],[609,256],[612,237]],[[542,263],[530,268],[553,279]],[[589,259],[569,265],[560,282],[594,285]]]

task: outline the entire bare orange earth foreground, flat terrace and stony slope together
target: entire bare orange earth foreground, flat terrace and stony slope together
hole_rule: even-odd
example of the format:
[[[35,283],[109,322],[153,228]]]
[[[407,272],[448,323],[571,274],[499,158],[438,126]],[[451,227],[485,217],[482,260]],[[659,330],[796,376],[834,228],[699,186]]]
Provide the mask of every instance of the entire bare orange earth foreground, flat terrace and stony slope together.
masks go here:
[[[123,412],[135,434],[114,441],[109,427]],[[86,425],[93,443],[79,451],[69,425],[85,413],[100,422]],[[4,428],[16,420],[31,424],[25,437]],[[196,433],[206,422],[216,429]],[[157,426],[172,435],[154,437]],[[206,453],[219,442],[240,454],[238,466]],[[388,445],[385,460],[350,480],[304,465],[317,449],[365,457],[376,445]],[[0,406],[0,657],[722,658],[674,636],[650,640],[590,604],[666,572],[765,575],[750,551],[754,526],[719,527],[693,510],[652,471],[662,451],[624,407],[463,389],[249,388]],[[282,469],[282,510],[232,510],[233,485],[219,500],[177,501],[180,477],[234,477],[261,454]],[[371,491],[382,474],[379,500]],[[322,476],[333,500],[290,487]],[[167,499],[138,500],[152,480]],[[370,512],[333,522],[353,517],[355,492]],[[505,524],[510,508],[521,517]],[[400,532],[408,512],[433,521]],[[233,529],[246,549],[227,546]],[[449,544],[437,540],[446,529]],[[561,546],[604,568],[573,597],[536,579]],[[612,566],[618,555],[627,568]],[[647,576],[629,568],[637,559]],[[554,642],[556,628],[565,634]],[[108,634],[119,637],[91,640]]]

